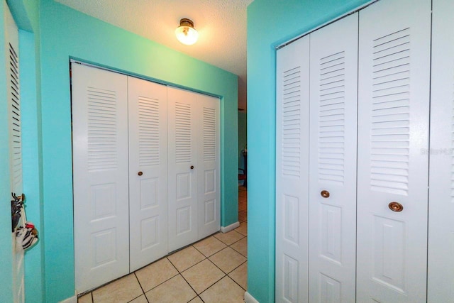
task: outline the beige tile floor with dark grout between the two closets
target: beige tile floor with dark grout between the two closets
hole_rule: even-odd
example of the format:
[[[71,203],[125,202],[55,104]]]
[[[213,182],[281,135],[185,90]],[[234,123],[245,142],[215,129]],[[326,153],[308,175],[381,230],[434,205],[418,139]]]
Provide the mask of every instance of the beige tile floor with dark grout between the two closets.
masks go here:
[[[238,187],[240,226],[216,233],[79,297],[79,303],[243,302],[248,287],[248,192]]]

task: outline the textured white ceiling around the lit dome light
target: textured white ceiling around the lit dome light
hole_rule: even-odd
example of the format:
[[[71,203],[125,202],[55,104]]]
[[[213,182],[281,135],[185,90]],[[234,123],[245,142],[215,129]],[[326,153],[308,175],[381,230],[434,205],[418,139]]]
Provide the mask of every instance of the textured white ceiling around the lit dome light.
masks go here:
[[[253,0],[55,0],[239,76],[238,107],[246,109],[246,6]],[[194,21],[199,41],[175,38],[179,19]]]

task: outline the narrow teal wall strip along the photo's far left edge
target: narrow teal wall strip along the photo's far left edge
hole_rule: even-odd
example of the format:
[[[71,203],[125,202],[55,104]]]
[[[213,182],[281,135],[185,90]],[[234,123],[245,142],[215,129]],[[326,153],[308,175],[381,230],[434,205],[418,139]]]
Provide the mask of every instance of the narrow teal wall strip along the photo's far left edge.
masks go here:
[[[4,5],[0,4],[0,58],[5,58]],[[9,125],[6,103],[6,60],[0,60],[0,302],[12,302],[11,185],[9,181]]]

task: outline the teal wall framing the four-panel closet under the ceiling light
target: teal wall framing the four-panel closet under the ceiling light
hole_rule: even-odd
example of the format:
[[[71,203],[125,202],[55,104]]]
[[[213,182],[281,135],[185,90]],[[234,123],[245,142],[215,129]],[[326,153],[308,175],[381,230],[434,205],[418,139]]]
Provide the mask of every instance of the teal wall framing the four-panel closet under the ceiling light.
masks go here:
[[[221,225],[238,221],[237,76],[40,1],[46,302],[74,295],[70,57],[221,96]]]

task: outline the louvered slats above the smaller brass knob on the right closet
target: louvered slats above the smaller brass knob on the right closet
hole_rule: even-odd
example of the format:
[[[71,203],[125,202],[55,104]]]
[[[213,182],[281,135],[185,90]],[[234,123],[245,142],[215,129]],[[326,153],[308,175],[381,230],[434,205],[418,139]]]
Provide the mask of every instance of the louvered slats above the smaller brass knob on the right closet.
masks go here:
[[[345,161],[345,53],[320,59],[319,180],[342,185]]]

